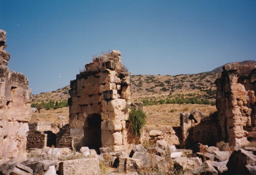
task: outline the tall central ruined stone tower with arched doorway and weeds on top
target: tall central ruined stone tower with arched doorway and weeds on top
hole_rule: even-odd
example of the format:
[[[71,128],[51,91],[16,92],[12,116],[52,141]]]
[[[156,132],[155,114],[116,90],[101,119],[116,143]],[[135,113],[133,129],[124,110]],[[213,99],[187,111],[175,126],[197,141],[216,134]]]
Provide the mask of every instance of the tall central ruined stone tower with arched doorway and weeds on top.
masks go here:
[[[95,58],[70,81],[69,122],[72,146],[125,149],[130,109],[130,72],[122,72],[121,53]]]

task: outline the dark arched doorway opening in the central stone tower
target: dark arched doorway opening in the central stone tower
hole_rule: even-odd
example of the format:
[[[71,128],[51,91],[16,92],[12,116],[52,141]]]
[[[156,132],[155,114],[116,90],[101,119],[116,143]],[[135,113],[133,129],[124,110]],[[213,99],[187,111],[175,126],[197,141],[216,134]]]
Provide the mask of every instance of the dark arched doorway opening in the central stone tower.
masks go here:
[[[91,114],[86,118],[83,133],[83,146],[99,150],[101,147],[101,115]]]

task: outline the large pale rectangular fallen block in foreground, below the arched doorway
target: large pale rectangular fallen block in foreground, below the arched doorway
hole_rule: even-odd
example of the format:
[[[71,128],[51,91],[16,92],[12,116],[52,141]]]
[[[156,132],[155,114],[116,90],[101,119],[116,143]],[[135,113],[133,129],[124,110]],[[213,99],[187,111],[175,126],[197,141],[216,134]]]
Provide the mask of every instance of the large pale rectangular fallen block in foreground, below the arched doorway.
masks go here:
[[[99,161],[96,158],[62,161],[59,164],[59,174],[98,175],[100,174]]]

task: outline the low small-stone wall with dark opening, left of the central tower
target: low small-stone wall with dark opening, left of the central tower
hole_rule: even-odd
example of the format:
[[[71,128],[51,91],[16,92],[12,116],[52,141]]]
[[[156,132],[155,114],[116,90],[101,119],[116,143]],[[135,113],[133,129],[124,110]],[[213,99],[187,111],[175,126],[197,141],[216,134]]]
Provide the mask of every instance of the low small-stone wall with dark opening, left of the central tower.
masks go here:
[[[66,122],[28,123],[27,149],[71,147],[70,125]]]

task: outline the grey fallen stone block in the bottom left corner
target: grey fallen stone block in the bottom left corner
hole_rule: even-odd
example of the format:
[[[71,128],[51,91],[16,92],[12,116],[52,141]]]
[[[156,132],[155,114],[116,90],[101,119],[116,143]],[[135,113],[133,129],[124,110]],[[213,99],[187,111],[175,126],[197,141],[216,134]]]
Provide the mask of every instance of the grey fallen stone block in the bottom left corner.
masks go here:
[[[3,175],[32,175],[33,170],[25,165],[8,161],[0,166],[0,174]]]

